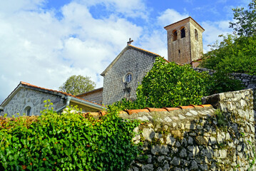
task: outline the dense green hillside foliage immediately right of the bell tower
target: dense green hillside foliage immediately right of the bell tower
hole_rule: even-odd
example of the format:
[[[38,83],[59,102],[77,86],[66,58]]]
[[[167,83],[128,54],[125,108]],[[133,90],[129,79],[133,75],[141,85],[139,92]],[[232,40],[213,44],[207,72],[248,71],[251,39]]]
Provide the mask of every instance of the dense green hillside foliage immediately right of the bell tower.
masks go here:
[[[204,55],[201,67],[222,73],[256,75],[256,36],[237,38],[227,35],[220,44],[215,43],[212,47],[212,51]]]

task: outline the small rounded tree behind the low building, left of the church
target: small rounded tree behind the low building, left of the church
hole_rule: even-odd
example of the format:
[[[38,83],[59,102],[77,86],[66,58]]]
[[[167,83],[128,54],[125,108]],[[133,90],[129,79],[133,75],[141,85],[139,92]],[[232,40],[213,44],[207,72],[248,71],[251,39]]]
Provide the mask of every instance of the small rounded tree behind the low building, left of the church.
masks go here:
[[[68,80],[63,83],[59,90],[71,93],[72,95],[78,95],[85,93],[87,91],[93,90],[96,86],[96,83],[90,80],[88,76],[76,76],[73,75],[68,78]]]

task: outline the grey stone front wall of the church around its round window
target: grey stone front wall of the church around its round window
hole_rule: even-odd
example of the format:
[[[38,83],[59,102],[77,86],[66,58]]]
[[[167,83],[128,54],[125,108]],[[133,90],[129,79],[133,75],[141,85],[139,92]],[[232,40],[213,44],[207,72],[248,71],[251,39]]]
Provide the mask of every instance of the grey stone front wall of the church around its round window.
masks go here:
[[[127,73],[132,74],[132,81],[128,83],[130,98],[136,98],[135,90],[145,74],[150,71],[155,62],[155,57],[146,53],[128,49],[115,65],[104,76],[103,104],[109,105],[125,97],[123,78]]]

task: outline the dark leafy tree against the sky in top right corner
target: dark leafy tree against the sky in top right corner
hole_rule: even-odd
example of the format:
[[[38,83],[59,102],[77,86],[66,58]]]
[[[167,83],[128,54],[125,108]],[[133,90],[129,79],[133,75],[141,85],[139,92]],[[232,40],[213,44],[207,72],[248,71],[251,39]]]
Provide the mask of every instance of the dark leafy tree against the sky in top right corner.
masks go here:
[[[230,28],[237,31],[239,36],[255,36],[256,34],[256,0],[252,0],[248,7],[248,9],[232,9],[235,22],[230,22]]]

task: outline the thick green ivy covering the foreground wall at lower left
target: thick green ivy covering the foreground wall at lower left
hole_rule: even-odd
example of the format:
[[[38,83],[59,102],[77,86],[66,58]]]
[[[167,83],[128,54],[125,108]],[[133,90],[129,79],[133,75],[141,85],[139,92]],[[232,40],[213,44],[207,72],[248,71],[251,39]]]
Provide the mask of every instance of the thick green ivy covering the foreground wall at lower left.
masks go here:
[[[71,110],[4,122],[0,170],[127,170],[140,153],[131,142],[138,121],[123,120],[114,109],[99,120]]]

